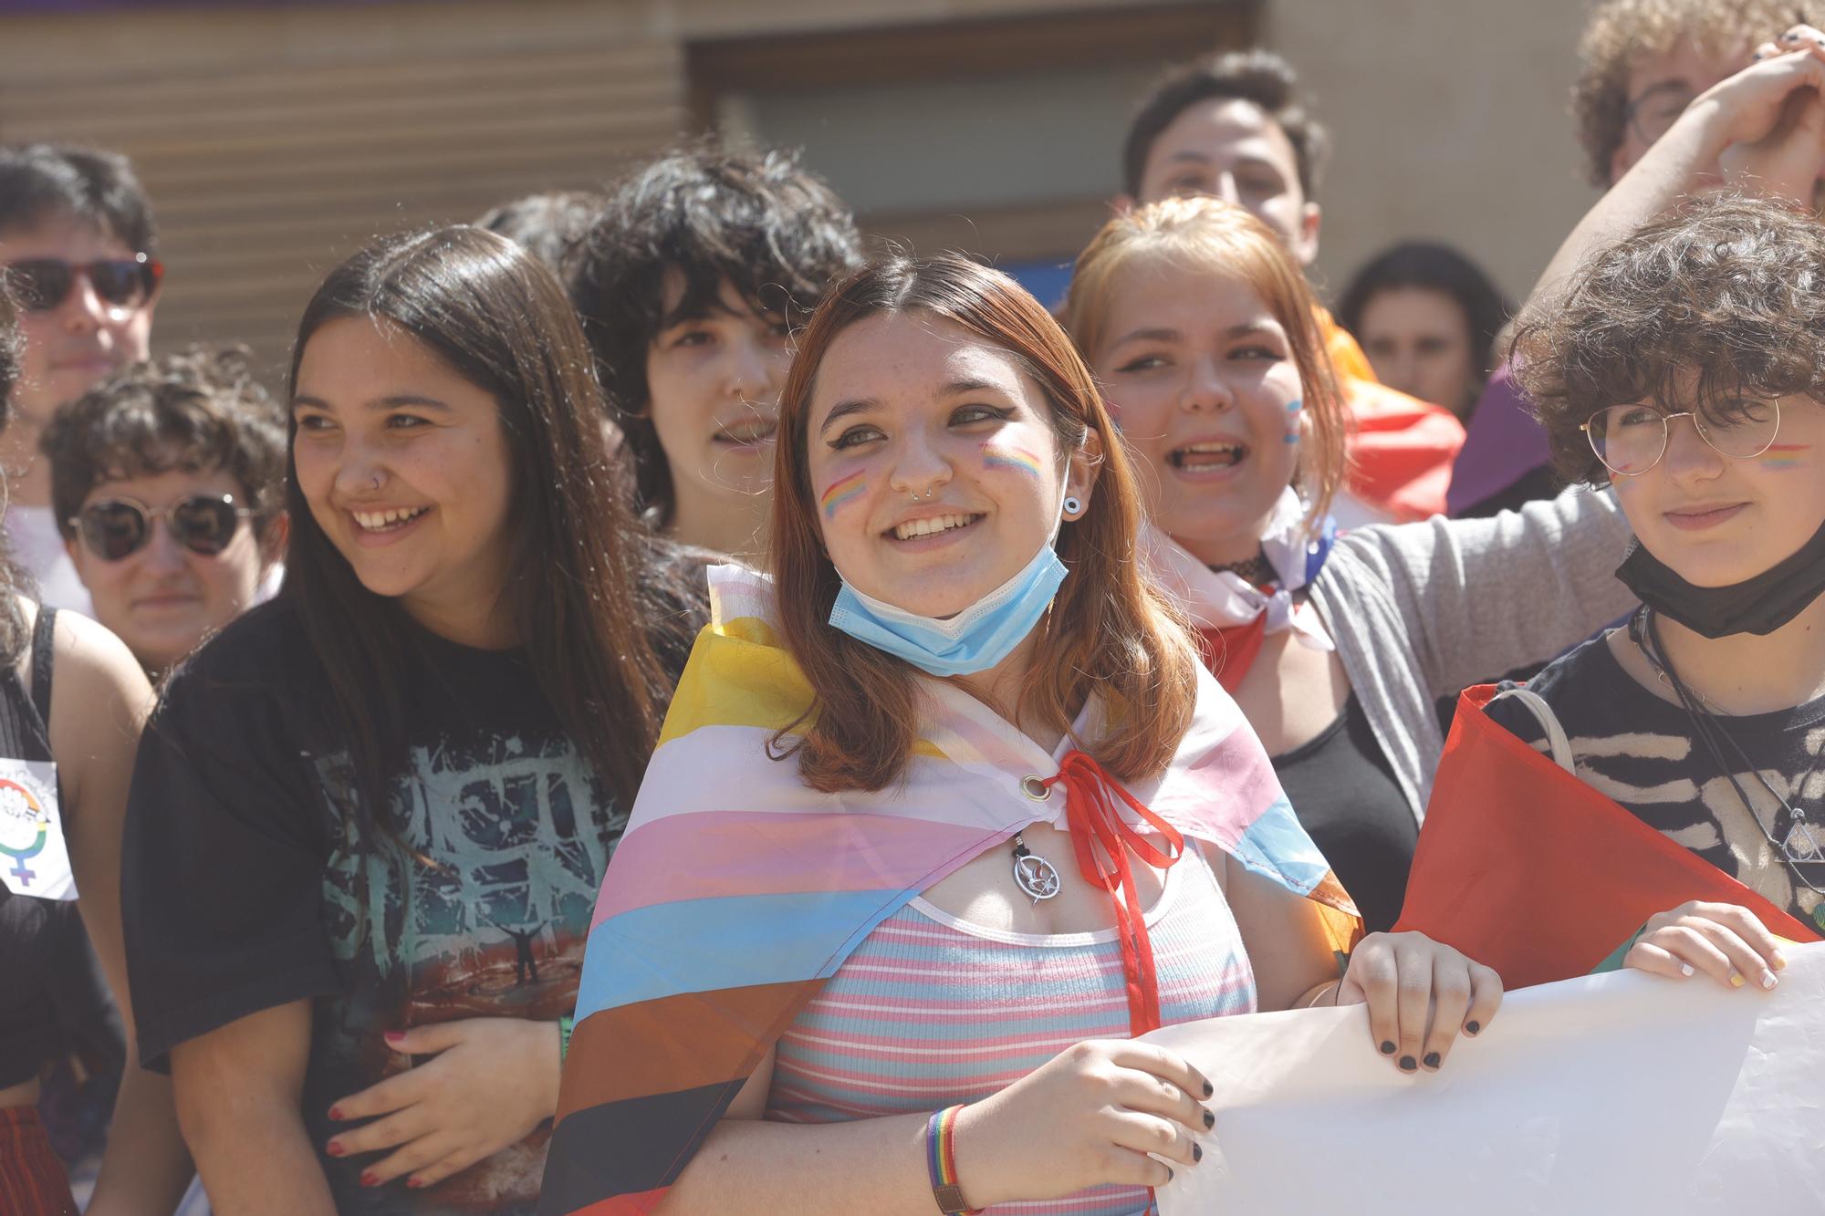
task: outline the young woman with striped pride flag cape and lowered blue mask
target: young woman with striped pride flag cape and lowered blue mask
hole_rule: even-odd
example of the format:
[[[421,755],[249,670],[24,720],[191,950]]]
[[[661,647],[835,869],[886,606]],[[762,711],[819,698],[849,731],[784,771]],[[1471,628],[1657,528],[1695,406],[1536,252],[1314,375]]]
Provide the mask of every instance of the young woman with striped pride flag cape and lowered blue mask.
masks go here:
[[[774,484],[602,886],[540,1211],[1132,1216],[1212,1127],[1132,1037],[1367,1002],[1414,1072],[1489,1022],[1489,970],[1356,940],[1011,279],[840,285]]]

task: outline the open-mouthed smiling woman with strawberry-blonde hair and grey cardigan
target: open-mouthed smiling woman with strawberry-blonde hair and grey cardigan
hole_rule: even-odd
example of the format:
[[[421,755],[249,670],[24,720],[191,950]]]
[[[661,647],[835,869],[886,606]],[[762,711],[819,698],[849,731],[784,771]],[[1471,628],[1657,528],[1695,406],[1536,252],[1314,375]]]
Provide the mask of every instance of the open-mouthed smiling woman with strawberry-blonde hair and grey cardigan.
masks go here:
[[[1615,502],[1573,491],[1338,537],[1349,422],[1310,290],[1267,226],[1215,199],[1104,225],[1066,325],[1142,466],[1155,577],[1369,928],[1391,928],[1444,749],[1434,699],[1628,610]]]

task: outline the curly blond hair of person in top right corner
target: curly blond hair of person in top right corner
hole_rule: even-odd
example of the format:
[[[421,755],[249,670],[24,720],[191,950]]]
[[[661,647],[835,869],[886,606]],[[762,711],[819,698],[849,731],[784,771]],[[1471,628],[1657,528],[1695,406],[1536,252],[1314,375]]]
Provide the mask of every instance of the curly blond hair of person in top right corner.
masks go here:
[[[1818,0],[1602,0],[1579,37],[1571,117],[1579,124],[1590,183],[1610,186],[1610,162],[1628,126],[1628,73],[1688,42],[1705,55],[1747,53],[1801,20],[1818,20]]]

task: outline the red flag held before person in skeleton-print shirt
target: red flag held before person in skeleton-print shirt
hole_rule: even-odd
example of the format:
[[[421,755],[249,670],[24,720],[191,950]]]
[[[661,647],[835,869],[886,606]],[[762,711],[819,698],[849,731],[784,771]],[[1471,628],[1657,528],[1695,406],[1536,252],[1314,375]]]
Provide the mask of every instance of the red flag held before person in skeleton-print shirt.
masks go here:
[[[1741,904],[1781,937],[1820,940],[1493,721],[1495,694],[1458,699],[1396,931],[1456,946],[1507,988],[1590,975],[1686,900]]]

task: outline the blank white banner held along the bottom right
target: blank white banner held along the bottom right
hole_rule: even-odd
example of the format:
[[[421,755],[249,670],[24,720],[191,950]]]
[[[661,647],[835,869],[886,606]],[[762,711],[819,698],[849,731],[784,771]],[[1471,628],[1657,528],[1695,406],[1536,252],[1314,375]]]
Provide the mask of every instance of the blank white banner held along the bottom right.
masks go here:
[[[1639,971],[1507,993],[1436,1072],[1361,1006],[1148,1037],[1215,1085],[1161,1216],[1825,1212],[1825,944],[1774,991]]]

